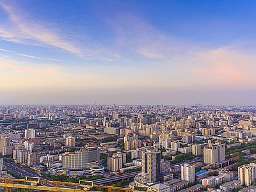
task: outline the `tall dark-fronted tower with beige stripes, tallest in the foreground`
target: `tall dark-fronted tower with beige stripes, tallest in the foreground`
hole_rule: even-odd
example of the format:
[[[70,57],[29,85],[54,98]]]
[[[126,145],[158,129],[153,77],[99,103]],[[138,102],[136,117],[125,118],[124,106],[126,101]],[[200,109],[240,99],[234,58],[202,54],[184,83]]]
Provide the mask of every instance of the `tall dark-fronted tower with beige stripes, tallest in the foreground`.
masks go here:
[[[142,172],[148,173],[148,182],[163,182],[161,172],[161,152],[157,148],[150,148],[142,153]]]

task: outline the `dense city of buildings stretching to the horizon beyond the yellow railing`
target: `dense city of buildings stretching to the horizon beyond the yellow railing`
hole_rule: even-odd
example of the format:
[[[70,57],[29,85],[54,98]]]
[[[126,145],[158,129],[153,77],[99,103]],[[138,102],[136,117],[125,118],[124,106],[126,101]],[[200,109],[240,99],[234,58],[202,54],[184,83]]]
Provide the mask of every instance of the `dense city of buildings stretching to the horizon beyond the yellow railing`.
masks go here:
[[[0,106],[1,177],[256,189],[255,106]],[[137,187],[137,188],[136,188]]]

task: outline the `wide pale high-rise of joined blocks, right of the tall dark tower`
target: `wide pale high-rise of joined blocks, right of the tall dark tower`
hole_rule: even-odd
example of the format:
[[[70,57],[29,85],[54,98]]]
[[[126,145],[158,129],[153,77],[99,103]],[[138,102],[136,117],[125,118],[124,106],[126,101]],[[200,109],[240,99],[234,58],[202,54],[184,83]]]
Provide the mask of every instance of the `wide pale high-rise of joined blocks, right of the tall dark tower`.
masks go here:
[[[225,160],[225,144],[209,143],[204,147],[204,163],[214,164]]]

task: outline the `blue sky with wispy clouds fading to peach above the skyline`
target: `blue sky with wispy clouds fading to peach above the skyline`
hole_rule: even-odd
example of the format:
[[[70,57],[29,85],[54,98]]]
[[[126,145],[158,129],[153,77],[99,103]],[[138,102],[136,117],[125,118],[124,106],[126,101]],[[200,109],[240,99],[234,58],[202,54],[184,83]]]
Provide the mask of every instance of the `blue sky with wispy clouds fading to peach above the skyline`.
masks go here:
[[[0,104],[256,105],[256,1],[0,1]]]

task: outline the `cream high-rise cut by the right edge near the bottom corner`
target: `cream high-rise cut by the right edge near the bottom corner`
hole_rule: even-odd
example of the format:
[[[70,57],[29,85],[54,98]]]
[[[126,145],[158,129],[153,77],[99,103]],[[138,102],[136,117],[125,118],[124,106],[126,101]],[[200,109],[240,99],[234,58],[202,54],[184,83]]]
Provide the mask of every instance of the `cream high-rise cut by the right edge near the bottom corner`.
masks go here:
[[[244,164],[238,167],[238,180],[244,186],[251,186],[256,179],[256,164]]]

